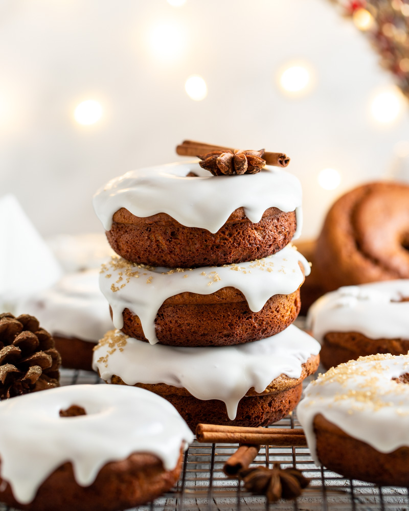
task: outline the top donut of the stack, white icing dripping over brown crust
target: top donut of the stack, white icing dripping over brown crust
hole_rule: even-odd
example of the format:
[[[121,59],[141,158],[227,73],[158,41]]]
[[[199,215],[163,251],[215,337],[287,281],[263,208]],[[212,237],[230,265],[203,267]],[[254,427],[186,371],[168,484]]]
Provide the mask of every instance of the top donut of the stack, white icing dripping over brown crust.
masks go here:
[[[94,196],[121,257],[169,268],[261,259],[301,231],[301,185],[276,167],[213,176],[198,163],[128,172]],[[194,200],[192,200],[194,198]]]

